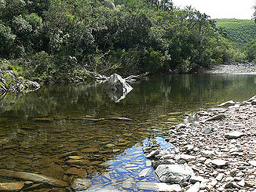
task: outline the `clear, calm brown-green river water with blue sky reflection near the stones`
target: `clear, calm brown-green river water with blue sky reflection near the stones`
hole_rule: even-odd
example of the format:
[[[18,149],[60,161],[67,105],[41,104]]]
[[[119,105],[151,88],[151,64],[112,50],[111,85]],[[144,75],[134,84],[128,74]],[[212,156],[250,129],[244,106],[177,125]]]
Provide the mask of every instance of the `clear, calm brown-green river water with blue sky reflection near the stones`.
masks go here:
[[[256,94],[254,74],[174,74],[145,77],[115,103],[102,84],[43,87],[25,95],[0,97],[0,167],[34,172],[71,183],[89,178],[90,191],[147,191],[158,182],[143,148],[152,141],[172,147],[172,125],[184,114],[243,101]],[[123,121],[122,118],[126,121]],[[79,170],[79,171],[78,171]],[[1,182],[16,179],[0,177]],[[34,191],[66,191],[38,186]]]

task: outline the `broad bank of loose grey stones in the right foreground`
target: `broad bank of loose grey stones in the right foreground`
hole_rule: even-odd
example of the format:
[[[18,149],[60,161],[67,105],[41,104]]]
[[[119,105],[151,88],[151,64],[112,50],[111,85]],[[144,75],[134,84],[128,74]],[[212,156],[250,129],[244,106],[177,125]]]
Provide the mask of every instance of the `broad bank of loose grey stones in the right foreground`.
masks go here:
[[[201,110],[170,127],[173,147],[146,151],[159,191],[256,191],[256,96]],[[157,147],[156,147],[157,148]]]

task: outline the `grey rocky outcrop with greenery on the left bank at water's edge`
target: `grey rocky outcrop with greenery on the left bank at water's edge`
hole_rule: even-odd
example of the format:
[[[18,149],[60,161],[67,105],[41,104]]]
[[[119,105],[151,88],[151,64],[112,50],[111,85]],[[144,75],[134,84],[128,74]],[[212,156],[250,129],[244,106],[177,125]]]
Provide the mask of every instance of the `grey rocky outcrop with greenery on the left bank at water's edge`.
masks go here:
[[[12,67],[0,67],[0,94],[10,92],[29,92],[39,89],[37,82],[19,77]]]

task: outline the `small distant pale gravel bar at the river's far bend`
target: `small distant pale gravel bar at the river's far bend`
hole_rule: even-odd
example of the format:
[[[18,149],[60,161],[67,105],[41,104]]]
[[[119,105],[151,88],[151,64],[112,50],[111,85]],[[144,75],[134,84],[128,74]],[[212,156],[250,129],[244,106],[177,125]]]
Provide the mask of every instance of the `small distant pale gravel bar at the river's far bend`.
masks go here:
[[[236,73],[254,73],[256,67],[252,63],[225,63],[218,66],[214,66],[210,71],[206,71],[209,74],[236,74]]]

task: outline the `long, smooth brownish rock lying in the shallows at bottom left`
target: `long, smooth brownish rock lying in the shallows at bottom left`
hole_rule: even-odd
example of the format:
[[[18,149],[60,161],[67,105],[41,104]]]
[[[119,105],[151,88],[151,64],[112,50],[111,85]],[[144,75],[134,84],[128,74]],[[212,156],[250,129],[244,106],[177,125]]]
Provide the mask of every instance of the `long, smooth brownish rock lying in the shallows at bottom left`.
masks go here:
[[[50,176],[43,176],[35,173],[30,173],[30,172],[14,172],[6,169],[0,169],[0,176],[29,180],[35,183],[45,183],[45,184],[49,184],[57,187],[68,186],[68,183],[61,181],[59,179],[55,179]]]

